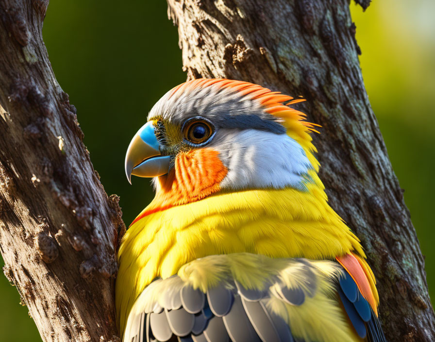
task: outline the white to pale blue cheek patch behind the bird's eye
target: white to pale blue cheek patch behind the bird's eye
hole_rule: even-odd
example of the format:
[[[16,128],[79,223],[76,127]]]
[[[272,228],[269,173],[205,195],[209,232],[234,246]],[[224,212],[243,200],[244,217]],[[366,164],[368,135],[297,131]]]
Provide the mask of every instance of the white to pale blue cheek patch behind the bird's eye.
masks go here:
[[[305,190],[313,166],[301,145],[286,134],[254,129],[220,129],[207,145],[219,152],[228,174],[222,189],[285,188]]]

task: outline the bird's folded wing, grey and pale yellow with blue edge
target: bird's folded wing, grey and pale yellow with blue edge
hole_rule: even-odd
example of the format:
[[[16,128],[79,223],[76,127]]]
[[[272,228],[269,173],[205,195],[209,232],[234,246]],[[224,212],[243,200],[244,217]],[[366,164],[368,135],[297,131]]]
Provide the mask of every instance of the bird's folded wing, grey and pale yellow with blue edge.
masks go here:
[[[214,272],[216,265],[220,266],[218,272]],[[311,275],[308,285],[307,270]],[[213,285],[208,282],[211,273],[217,278]],[[177,275],[153,281],[141,293],[130,313],[124,341],[134,341],[141,331],[149,332],[150,341],[172,337],[207,342],[361,341],[371,325],[377,326],[372,322],[377,318],[370,311],[367,320],[366,311],[356,308],[358,300],[365,301],[359,291],[359,299],[353,303],[346,297],[340,285],[343,279],[353,281],[332,261],[272,259],[243,253],[207,256],[186,264]],[[303,293],[304,300],[298,305],[293,303],[294,297],[288,300],[282,295],[292,290],[298,293],[296,298]],[[345,310],[332,299],[336,291]],[[165,307],[174,302],[172,297],[181,298],[181,308]],[[189,312],[199,306],[200,311]],[[164,310],[156,313],[156,307]],[[143,320],[142,330],[138,320]]]

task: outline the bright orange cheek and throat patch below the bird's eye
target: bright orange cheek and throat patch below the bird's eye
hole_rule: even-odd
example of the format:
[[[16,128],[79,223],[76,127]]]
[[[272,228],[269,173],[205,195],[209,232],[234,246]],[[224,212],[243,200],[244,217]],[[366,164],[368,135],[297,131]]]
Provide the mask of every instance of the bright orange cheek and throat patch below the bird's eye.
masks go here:
[[[219,191],[228,170],[218,154],[210,148],[179,153],[174,168],[158,178],[156,196],[148,209],[133,223],[156,211],[199,201]]]

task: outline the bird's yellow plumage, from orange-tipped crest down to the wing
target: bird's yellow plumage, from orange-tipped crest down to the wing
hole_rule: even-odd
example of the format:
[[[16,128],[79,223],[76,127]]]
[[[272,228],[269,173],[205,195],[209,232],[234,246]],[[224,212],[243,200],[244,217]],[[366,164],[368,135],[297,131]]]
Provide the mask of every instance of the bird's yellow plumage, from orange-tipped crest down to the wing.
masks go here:
[[[156,205],[151,204],[145,208],[124,235],[118,252],[116,306],[121,336],[129,317],[127,331],[134,332],[144,309],[150,312],[165,293],[180,291],[186,284],[206,292],[219,282],[234,279],[246,288],[269,291],[269,309],[284,318],[296,338],[361,341],[339,306],[333,285],[342,268],[325,259],[353,253],[377,303],[375,279],[359,239],[327,202],[310,136],[313,126],[303,121],[301,112],[281,104],[290,97],[248,83],[196,80],[168,94],[215,85],[230,90],[233,87],[280,118],[287,135],[301,146],[312,169],[306,174],[303,189],[220,190],[184,205],[155,210]],[[168,131],[173,128],[169,124]],[[179,134],[179,129],[177,126],[174,132]],[[161,191],[157,182],[156,199]],[[305,262],[310,263],[318,278],[316,293],[305,296],[300,306],[279,299],[277,284],[266,285],[268,277],[278,276],[289,289],[305,289],[301,262],[289,259],[296,257],[312,259]]]

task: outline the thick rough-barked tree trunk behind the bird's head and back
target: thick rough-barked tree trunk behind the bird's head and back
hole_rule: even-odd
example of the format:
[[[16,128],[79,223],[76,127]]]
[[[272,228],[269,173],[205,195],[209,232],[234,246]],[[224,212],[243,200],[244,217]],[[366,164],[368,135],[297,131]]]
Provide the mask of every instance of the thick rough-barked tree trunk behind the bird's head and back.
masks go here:
[[[189,78],[302,95],[331,205],[362,240],[387,339],[435,341],[424,260],[368,102],[349,0],[167,0]],[[370,0],[357,1],[367,8]]]

